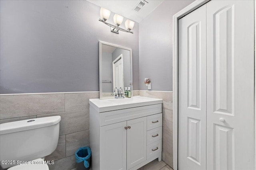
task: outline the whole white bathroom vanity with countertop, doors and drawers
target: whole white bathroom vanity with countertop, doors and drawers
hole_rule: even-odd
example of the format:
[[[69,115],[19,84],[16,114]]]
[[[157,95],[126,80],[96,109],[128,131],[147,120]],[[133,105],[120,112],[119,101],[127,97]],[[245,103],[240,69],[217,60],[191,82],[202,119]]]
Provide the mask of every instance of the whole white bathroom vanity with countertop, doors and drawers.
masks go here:
[[[137,170],[162,160],[162,100],[90,99],[92,170]]]

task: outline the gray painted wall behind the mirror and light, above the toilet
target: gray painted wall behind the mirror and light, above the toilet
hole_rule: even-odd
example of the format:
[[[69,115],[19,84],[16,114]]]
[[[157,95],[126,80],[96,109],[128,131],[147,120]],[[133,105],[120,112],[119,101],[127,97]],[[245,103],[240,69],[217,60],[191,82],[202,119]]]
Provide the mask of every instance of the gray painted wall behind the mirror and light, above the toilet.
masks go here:
[[[99,91],[99,40],[132,49],[138,90],[138,23],[115,34],[99,12],[85,0],[1,0],[0,93]]]

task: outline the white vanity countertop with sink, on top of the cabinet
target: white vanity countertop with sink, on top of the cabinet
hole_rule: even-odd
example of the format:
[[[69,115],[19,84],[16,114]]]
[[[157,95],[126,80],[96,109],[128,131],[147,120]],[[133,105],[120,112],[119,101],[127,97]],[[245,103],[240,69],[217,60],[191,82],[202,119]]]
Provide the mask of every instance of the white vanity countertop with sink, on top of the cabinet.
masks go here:
[[[131,107],[140,107],[153,104],[161,104],[162,99],[148,98],[142,96],[133,96],[124,99],[90,99],[89,104],[98,112],[127,109]]]

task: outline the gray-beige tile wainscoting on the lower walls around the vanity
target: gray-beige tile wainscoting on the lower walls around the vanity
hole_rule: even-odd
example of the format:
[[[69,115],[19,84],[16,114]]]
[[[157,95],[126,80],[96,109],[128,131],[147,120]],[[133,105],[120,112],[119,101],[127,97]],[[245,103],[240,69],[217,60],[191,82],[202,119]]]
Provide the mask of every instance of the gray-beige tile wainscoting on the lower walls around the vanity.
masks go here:
[[[135,90],[133,93],[163,99],[162,160],[173,167],[172,92]],[[90,98],[99,98],[99,92],[1,95],[0,123],[60,115],[58,146],[46,160],[54,160],[54,164],[49,165],[50,170],[70,170],[76,167],[75,151],[90,146]]]

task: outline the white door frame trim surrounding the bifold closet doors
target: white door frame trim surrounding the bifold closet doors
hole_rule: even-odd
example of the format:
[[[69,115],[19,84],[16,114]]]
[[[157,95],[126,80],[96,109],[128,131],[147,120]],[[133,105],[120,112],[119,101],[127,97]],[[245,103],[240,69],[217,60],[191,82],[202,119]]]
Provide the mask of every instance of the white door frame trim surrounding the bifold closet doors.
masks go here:
[[[173,16],[173,40],[172,40],[172,60],[173,60],[173,169],[178,169],[178,20],[188,13],[196,10],[200,6],[206,4],[210,0],[195,0],[184,9],[174,14]],[[256,45],[256,0],[254,0],[254,46]],[[255,49],[255,48],[254,48]],[[254,50],[254,68],[256,66],[256,51]],[[256,69],[254,69],[254,115],[256,113]],[[254,170],[256,170],[256,117],[254,116]]]

